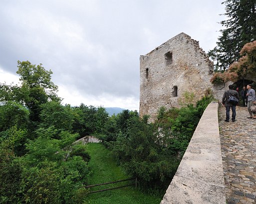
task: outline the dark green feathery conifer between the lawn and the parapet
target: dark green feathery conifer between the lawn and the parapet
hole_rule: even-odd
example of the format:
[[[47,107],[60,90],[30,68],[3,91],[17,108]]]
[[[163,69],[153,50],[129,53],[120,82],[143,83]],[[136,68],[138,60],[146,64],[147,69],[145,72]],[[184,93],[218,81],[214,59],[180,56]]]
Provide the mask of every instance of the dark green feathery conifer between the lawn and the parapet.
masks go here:
[[[132,117],[125,133],[119,133],[113,153],[128,174],[144,187],[166,188],[179,165],[171,151],[165,151],[156,126]]]

